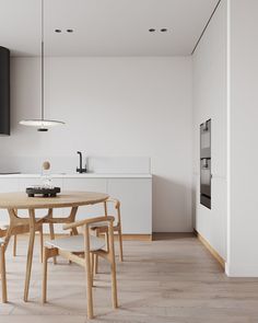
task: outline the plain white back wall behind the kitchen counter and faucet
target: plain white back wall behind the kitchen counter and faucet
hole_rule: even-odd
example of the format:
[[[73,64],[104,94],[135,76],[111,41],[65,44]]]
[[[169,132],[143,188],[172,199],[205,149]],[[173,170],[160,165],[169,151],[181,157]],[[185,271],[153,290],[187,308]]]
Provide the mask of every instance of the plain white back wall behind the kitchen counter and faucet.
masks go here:
[[[77,150],[151,157],[154,231],[191,231],[191,58],[48,58],[46,117],[67,125],[46,134],[17,124],[39,116],[39,72],[36,58],[12,59],[3,165],[35,172],[35,157],[66,164]]]

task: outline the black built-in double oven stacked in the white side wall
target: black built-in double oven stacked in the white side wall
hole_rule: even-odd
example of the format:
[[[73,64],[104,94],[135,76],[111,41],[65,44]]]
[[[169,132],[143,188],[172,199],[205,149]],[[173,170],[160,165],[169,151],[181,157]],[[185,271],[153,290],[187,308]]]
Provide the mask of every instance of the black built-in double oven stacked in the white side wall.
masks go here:
[[[211,119],[200,125],[200,203],[211,208]]]

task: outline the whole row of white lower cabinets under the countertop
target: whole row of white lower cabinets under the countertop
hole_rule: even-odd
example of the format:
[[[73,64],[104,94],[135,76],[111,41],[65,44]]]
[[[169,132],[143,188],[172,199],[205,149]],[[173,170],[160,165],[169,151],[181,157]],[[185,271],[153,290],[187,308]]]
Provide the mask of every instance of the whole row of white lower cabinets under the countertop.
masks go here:
[[[101,192],[121,201],[122,233],[126,234],[152,234],[152,178],[151,177],[54,177],[55,186],[61,187],[61,192]],[[0,193],[25,192],[31,185],[40,184],[40,178],[35,177],[0,177]],[[37,210],[36,215],[46,215],[47,210]],[[70,209],[55,209],[54,216],[63,217],[70,214]],[[110,209],[110,214],[113,210]],[[24,215],[23,210],[19,215]],[[85,219],[104,215],[104,205],[79,207],[77,219]],[[0,209],[0,224],[8,222],[5,210]],[[48,232],[48,226],[45,226]],[[61,226],[55,226],[57,233],[62,232]]]

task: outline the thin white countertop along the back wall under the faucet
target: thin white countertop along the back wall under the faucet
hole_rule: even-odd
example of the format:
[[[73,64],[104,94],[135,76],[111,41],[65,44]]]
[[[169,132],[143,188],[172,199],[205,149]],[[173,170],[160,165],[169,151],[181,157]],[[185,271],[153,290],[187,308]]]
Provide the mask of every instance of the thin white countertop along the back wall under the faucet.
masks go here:
[[[151,174],[99,174],[99,173],[83,173],[83,174],[51,174],[54,178],[152,178]],[[37,178],[40,174],[4,174],[0,178]]]

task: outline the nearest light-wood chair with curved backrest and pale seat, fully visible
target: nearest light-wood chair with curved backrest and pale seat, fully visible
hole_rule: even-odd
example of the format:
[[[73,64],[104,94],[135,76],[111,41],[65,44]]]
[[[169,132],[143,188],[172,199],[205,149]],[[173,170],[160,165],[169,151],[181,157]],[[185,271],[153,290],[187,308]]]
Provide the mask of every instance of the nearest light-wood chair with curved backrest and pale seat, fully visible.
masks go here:
[[[85,268],[86,273],[86,291],[87,291],[87,319],[93,319],[93,257],[98,255],[110,263],[112,267],[112,296],[113,307],[116,309],[117,303],[117,282],[116,282],[116,263],[114,253],[114,217],[98,217],[64,224],[63,229],[74,229],[83,227],[83,234],[70,235],[67,238],[56,239],[46,242],[44,247],[44,269],[43,269],[43,302],[47,300],[47,261],[50,257],[60,255],[68,261],[77,263]],[[92,235],[91,227],[106,226],[108,228],[108,240]],[[104,250],[104,249],[107,250]]]

